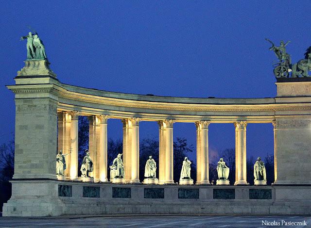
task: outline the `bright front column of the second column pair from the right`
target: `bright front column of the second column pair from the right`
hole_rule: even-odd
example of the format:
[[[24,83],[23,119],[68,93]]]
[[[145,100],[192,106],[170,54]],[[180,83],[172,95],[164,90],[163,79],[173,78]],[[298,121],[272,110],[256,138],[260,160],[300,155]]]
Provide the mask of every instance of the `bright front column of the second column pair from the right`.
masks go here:
[[[209,183],[208,171],[208,125],[209,121],[200,121],[201,125],[201,182],[200,184]]]

